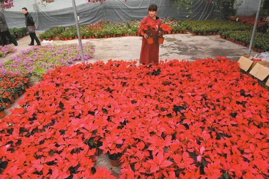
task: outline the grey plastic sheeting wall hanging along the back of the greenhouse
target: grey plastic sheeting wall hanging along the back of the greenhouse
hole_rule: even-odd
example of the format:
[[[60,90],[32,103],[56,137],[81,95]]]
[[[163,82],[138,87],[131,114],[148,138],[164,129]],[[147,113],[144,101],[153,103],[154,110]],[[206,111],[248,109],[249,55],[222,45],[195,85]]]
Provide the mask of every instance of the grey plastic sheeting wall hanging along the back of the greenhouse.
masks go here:
[[[15,0],[14,7],[5,10],[5,18],[9,28],[25,27],[25,18],[22,7],[38,24],[37,31],[45,31],[54,26],[75,25],[72,0],[55,0],[46,6],[38,3],[39,0]],[[178,20],[186,19],[187,11],[177,10],[171,0],[106,0],[102,4],[89,3],[86,0],[75,0],[79,24],[92,24],[100,20],[131,21],[140,20],[147,15],[148,5],[155,3],[158,6],[157,16],[161,18],[173,17]],[[194,0],[193,15],[189,19],[218,19],[212,4],[205,0]]]

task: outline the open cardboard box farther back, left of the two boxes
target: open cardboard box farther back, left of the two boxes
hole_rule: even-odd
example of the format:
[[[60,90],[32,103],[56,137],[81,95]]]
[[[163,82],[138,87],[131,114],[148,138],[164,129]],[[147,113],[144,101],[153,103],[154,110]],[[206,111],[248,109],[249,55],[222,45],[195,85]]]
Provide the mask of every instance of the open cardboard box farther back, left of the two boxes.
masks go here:
[[[249,57],[251,57],[251,55],[242,55],[238,60],[239,68],[245,72],[250,72],[255,67],[256,64],[269,66],[269,62],[264,61],[253,62],[252,60],[249,59]]]

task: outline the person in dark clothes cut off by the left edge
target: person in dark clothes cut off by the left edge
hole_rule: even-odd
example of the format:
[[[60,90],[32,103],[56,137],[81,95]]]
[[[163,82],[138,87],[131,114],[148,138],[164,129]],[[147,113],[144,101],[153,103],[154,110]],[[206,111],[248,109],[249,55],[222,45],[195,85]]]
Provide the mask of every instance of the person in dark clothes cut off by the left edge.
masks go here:
[[[2,40],[2,46],[7,45],[6,37],[15,45],[18,45],[18,42],[13,38],[13,36],[10,34],[5,18],[4,13],[0,11],[0,36]]]

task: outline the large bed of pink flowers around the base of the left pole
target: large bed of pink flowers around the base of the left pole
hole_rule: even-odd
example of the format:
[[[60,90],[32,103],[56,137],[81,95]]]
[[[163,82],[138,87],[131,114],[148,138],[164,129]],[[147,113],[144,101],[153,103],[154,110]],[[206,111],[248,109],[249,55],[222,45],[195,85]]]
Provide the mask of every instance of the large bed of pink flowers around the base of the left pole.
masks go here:
[[[83,44],[85,60],[94,56],[94,45],[88,41]],[[19,55],[0,63],[0,72],[28,73],[42,77],[43,73],[55,66],[69,66],[75,60],[81,60],[79,46],[76,43],[63,45],[43,45],[22,50]]]

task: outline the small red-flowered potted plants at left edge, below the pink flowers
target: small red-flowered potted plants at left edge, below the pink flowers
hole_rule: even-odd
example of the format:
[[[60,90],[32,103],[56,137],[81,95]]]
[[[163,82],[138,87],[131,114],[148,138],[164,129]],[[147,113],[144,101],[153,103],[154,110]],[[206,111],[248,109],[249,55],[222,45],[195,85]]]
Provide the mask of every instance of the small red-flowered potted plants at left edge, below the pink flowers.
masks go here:
[[[0,118],[5,116],[4,109],[9,108],[25,92],[29,86],[29,79],[29,75],[26,74],[0,73]]]

